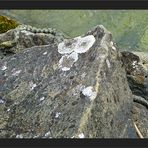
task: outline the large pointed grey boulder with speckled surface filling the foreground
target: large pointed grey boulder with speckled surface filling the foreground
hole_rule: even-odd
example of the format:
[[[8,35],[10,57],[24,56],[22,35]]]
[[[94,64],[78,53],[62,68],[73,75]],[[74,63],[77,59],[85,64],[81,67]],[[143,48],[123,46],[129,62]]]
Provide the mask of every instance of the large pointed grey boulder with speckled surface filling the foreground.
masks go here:
[[[121,54],[102,25],[89,35],[94,44],[67,71],[58,43],[0,60],[0,138],[137,137]]]

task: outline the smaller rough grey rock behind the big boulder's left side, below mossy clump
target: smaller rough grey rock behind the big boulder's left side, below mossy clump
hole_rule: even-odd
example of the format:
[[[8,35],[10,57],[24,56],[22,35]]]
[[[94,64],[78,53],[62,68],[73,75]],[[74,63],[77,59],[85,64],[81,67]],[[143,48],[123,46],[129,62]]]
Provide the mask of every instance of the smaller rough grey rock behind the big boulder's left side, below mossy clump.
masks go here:
[[[27,26],[27,25],[26,25]],[[64,39],[64,34],[55,29],[48,28],[51,32],[34,33],[35,27],[29,26],[30,31],[20,29],[18,26],[15,29],[9,30],[6,33],[0,34],[0,58],[19,53],[25,48],[34,46],[58,44]],[[36,30],[39,28],[36,28]],[[41,30],[41,29],[40,29]],[[52,31],[54,30],[54,31]]]

